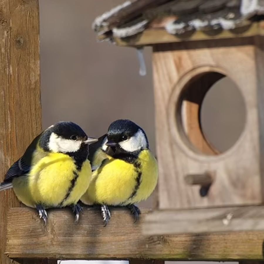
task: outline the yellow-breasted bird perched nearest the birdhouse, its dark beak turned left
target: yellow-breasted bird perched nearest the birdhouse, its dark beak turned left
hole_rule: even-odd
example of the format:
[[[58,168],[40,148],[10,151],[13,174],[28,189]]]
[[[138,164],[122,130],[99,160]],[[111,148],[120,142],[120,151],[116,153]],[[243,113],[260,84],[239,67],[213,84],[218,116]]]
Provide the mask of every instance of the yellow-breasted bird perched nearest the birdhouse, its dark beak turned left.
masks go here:
[[[101,207],[104,226],[111,218],[109,206],[127,207],[136,222],[141,211],[135,203],[147,199],[158,181],[157,161],[145,131],[131,120],[116,120],[90,145],[88,159],[92,179],[81,202]]]

